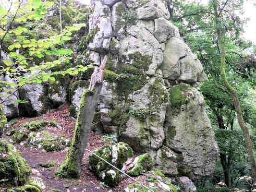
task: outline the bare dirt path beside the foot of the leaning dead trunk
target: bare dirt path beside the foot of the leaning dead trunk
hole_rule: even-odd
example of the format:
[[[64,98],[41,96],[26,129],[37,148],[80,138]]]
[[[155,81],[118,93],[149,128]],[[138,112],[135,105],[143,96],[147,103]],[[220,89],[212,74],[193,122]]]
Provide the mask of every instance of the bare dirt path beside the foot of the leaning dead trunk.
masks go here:
[[[28,161],[32,168],[32,179],[41,178],[45,185],[43,192],[53,192],[60,190],[61,192],[105,192],[100,188],[99,183],[94,180],[65,180],[55,177],[54,172],[59,168],[62,161],[65,159],[65,152],[47,153],[38,150],[34,147],[27,148],[17,145],[16,148],[21,152],[21,155]],[[40,163],[48,163],[49,161],[56,161],[54,168],[42,168]]]

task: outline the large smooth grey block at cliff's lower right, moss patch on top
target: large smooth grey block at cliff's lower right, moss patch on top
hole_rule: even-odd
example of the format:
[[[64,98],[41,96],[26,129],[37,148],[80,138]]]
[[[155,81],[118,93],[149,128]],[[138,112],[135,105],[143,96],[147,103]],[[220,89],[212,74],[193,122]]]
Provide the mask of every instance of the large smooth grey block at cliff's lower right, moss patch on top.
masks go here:
[[[178,172],[194,179],[211,175],[218,157],[218,145],[203,96],[186,84],[171,87],[169,93],[164,144],[182,155],[177,162]]]

